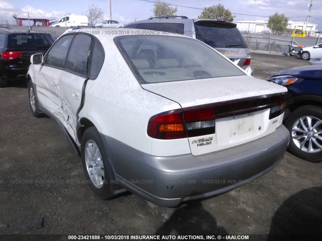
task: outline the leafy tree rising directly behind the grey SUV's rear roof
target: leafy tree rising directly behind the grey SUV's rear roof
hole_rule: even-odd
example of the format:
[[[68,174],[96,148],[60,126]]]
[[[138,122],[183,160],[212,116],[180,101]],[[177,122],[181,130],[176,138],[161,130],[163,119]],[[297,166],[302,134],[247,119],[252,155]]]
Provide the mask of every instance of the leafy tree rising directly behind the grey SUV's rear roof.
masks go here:
[[[212,7],[205,7],[198,19],[217,19],[232,22],[234,17],[236,16],[233,16],[222,4],[218,4]]]

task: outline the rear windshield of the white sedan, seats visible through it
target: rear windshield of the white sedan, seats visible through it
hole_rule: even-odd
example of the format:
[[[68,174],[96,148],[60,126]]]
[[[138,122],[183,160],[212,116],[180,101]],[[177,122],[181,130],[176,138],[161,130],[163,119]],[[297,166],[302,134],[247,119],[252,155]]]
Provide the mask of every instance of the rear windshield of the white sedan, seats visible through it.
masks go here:
[[[121,36],[115,42],[141,84],[245,75],[229,60],[194,39]]]

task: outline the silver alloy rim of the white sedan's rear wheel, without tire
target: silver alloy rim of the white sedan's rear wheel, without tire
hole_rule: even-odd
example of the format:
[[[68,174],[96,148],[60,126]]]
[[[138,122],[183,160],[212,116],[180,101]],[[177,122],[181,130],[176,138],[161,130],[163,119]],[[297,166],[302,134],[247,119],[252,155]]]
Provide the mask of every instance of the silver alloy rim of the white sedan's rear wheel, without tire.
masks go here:
[[[88,140],[86,143],[85,162],[93,185],[101,188],[104,183],[104,164],[100,149],[93,140]]]

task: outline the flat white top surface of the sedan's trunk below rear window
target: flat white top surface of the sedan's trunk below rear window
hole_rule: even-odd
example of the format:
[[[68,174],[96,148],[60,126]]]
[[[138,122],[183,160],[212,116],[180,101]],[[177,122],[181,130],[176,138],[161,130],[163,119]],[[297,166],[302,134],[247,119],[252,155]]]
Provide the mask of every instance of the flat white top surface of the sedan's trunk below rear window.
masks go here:
[[[142,84],[142,88],[182,107],[286,92],[287,88],[249,75]]]

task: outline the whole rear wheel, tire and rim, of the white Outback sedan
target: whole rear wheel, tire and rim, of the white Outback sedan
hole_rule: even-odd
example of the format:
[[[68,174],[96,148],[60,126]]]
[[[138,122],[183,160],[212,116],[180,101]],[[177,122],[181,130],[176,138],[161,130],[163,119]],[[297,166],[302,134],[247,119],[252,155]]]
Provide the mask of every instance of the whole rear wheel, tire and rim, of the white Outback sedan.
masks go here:
[[[82,163],[92,191],[102,199],[115,197],[115,174],[106,147],[95,127],[85,130],[82,138]]]

